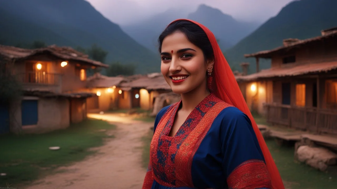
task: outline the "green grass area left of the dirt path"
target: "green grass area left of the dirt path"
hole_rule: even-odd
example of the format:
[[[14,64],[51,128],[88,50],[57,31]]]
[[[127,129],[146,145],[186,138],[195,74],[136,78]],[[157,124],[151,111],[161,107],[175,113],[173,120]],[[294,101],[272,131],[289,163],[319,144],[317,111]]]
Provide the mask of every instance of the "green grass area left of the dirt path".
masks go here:
[[[109,138],[99,129],[114,129],[102,120],[88,119],[71,124],[63,130],[45,134],[8,135],[1,137],[0,145],[0,187],[5,183],[23,184],[33,181],[40,175],[50,174],[59,166],[83,160],[94,151],[89,148],[103,145]],[[59,150],[49,150],[50,146],[60,146]]]

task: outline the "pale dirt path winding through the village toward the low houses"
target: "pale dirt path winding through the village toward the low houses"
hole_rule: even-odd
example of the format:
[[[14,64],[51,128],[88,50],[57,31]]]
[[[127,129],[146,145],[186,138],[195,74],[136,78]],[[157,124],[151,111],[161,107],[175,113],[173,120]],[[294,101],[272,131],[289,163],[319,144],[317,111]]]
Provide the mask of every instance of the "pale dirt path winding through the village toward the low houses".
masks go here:
[[[152,123],[134,121],[114,114],[89,114],[117,125],[116,138],[99,148],[99,153],[68,167],[61,173],[34,182],[27,189],[139,189],[146,169],[141,166],[142,140]],[[110,134],[110,133],[108,133]],[[64,171],[63,171],[64,170]]]

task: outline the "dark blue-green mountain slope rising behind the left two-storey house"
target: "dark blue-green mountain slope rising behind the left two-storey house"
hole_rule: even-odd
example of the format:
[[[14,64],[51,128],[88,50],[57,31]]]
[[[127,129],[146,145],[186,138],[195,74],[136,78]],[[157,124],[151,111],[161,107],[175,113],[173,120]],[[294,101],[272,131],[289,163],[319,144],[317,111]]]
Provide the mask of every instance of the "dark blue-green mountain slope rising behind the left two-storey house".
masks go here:
[[[108,51],[106,63],[120,61],[137,72],[159,71],[159,55],[137,43],[84,0],[0,1],[0,42],[6,45],[43,40],[76,48],[96,43]]]

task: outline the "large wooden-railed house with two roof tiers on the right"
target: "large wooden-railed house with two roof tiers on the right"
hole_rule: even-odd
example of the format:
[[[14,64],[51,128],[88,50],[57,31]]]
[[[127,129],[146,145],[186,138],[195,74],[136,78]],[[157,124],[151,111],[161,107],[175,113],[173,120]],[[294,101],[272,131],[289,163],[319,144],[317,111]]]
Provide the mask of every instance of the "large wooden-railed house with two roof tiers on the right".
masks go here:
[[[337,134],[336,44],[337,28],[332,28],[321,36],[285,39],[283,46],[245,54],[256,59],[256,73],[236,79],[250,110],[272,124]],[[271,59],[271,68],[260,71],[260,59]],[[248,64],[242,66],[245,70]]]

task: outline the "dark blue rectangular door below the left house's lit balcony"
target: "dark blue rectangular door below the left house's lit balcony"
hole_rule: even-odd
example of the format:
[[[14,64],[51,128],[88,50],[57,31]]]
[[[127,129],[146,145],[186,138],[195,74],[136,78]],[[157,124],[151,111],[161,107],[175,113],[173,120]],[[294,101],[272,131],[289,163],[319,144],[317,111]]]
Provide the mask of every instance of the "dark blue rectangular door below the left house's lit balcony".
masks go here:
[[[37,124],[37,100],[23,100],[21,104],[22,125]]]

